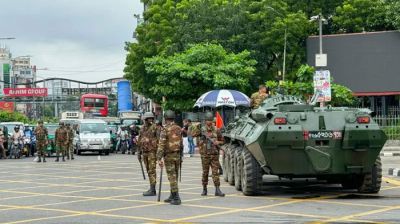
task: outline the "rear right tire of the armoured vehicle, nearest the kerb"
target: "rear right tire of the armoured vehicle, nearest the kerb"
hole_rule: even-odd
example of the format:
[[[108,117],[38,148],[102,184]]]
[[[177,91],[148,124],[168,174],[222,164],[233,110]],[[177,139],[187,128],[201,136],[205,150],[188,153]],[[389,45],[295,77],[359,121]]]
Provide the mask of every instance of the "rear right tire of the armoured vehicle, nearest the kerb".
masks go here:
[[[381,189],[382,183],[382,162],[381,157],[375,161],[372,167],[371,173],[365,174],[361,186],[358,188],[358,192],[374,194],[378,193]]]

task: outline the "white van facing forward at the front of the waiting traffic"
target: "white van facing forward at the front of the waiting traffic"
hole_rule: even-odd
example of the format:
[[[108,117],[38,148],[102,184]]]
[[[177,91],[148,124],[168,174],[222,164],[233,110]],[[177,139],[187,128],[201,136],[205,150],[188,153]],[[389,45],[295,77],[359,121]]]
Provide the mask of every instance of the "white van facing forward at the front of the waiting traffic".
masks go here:
[[[75,152],[98,152],[108,155],[111,148],[111,136],[107,123],[97,119],[82,119],[75,135]]]

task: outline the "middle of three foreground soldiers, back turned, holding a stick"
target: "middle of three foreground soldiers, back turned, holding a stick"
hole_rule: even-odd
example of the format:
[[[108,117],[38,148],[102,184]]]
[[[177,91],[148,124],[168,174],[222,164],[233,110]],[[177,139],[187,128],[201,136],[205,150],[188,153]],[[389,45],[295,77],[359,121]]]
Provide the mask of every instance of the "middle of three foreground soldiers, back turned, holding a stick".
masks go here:
[[[158,142],[157,160],[160,167],[164,166],[167,170],[168,180],[171,187],[170,196],[164,202],[172,205],[180,205],[181,199],[178,193],[178,178],[180,164],[180,151],[182,150],[182,131],[181,127],[174,123],[175,112],[166,111],[164,114],[165,127],[160,133]]]

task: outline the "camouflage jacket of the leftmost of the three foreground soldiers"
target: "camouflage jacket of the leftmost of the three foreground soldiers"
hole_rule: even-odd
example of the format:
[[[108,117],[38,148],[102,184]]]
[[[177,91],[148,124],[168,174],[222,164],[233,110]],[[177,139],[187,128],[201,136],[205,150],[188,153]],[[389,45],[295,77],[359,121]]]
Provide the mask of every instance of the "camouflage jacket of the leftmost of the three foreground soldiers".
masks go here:
[[[143,152],[157,151],[157,127],[155,124],[142,126],[139,132],[138,146]]]

